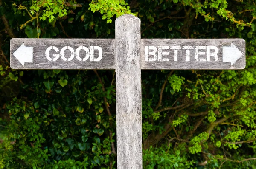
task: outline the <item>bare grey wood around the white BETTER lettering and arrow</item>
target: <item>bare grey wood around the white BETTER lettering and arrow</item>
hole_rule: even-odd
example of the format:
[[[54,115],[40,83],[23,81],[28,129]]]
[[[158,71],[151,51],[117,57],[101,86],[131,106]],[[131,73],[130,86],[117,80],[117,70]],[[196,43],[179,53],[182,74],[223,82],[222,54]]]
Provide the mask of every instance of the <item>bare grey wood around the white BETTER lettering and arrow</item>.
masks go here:
[[[233,43],[242,53],[240,59],[238,59],[233,65],[231,62],[223,62],[223,47],[230,47]],[[145,61],[145,46],[216,46],[218,48],[218,62],[215,61],[213,56],[210,56],[210,62],[204,61],[195,62],[194,53],[195,50],[190,50],[190,61],[186,61],[186,50],[178,50],[177,62],[174,61],[174,50],[162,49],[168,51],[169,55],[163,55],[162,58],[169,59],[166,61]],[[198,51],[205,51],[200,50]],[[229,52],[232,52],[232,48]],[[158,54],[158,53],[157,53]],[[244,39],[141,39],[141,68],[142,69],[244,69],[245,68],[245,41]],[[150,56],[152,57],[152,56]],[[198,55],[199,59],[205,59],[205,55]]]

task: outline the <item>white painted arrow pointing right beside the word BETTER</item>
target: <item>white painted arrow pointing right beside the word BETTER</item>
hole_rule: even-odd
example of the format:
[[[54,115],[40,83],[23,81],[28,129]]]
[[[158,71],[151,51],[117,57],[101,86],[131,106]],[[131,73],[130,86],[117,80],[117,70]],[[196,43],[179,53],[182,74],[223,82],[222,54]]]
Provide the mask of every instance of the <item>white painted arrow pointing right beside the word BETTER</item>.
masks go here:
[[[243,53],[233,43],[231,46],[223,46],[223,62],[231,62],[233,65],[242,55]]]

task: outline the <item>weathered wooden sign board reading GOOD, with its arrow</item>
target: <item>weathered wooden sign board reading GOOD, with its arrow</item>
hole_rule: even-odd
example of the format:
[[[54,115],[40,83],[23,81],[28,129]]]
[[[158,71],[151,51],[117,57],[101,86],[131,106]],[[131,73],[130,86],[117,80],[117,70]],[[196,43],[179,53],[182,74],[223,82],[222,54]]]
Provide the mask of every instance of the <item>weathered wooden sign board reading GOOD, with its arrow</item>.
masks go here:
[[[115,39],[11,39],[13,69],[115,69]],[[102,52],[102,54],[101,54]]]

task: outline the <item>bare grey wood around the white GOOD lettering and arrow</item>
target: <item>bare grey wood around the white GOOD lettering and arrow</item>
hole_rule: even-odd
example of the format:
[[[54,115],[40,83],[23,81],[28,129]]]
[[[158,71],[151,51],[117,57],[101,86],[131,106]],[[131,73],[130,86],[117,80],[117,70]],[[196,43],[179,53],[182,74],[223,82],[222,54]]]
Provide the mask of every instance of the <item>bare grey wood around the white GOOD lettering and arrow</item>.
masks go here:
[[[10,45],[10,65],[13,69],[115,69],[115,39],[11,39]],[[33,62],[26,62],[23,66],[13,55],[13,53],[22,45],[33,47]],[[98,62],[79,61],[76,56],[71,61],[64,61],[61,56],[58,60],[52,62],[46,58],[46,49],[50,46],[58,48],[59,52],[51,50],[49,55],[60,54],[65,46],[70,46],[74,51],[79,46],[84,46],[90,50],[90,46],[99,46],[102,48],[102,59]],[[65,58],[70,57],[71,52],[64,52]],[[94,50],[94,58],[97,58],[98,50]],[[86,51],[81,50],[79,56],[84,58]]]

